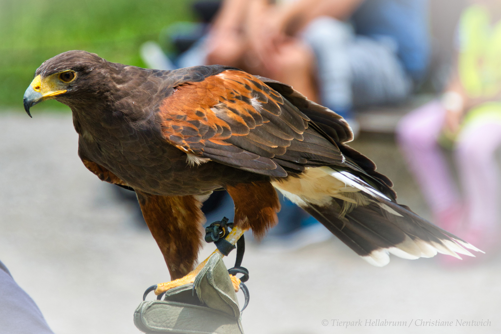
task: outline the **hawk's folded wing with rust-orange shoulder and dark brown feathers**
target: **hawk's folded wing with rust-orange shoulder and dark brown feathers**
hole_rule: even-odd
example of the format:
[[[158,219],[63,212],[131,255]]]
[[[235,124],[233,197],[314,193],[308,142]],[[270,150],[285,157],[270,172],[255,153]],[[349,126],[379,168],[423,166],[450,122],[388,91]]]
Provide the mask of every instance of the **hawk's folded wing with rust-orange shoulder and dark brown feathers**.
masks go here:
[[[338,130],[331,128],[330,135],[340,142],[351,139],[344,120],[323,109]],[[309,128],[309,116],[236,69],[178,84],[159,115],[166,140],[180,150],[259,174],[287,176],[284,168],[301,171],[345,160],[334,141]]]

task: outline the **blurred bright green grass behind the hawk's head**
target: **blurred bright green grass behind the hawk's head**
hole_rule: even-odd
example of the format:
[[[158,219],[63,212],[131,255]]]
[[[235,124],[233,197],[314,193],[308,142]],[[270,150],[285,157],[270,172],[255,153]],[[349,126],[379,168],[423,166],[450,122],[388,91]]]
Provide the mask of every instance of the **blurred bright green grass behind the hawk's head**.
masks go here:
[[[86,50],[111,62],[144,66],[139,46],[156,41],[161,29],[175,21],[191,21],[190,2],[0,0],[0,106],[22,108],[35,70],[68,50]]]

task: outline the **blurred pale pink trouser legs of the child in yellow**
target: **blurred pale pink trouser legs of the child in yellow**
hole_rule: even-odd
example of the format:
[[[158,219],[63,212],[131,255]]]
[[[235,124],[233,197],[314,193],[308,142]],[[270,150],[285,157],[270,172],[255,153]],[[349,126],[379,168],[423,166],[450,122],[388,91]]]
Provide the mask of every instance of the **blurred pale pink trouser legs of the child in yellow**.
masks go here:
[[[397,140],[409,169],[435,217],[462,206],[469,228],[494,228],[499,221],[495,151],[501,145],[501,122],[474,122],[459,133],[453,153],[463,193],[460,196],[437,143],[444,117],[443,107],[433,101],[400,121]]]

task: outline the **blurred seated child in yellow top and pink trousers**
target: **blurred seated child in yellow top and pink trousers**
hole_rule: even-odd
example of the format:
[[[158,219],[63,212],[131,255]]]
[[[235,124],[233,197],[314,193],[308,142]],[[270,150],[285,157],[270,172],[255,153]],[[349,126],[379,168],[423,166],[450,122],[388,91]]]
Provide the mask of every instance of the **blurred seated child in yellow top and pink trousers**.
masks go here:
[[[488,251],[499,233],[501,1],[471,3],[442,99],[404,117],[397,137],[435,223]],[[440,146],[453,150],[462,196]]]

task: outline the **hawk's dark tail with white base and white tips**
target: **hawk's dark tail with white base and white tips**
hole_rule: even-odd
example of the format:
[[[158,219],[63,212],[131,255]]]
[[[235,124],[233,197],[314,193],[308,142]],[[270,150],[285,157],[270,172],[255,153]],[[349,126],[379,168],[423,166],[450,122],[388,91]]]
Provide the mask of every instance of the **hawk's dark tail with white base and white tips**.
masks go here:
[[[437,252],[474,256],[466,248],[480,251],[345,170],[310,168],[274,185],[376,266],[386,265],[390,253],[417,259]]]

